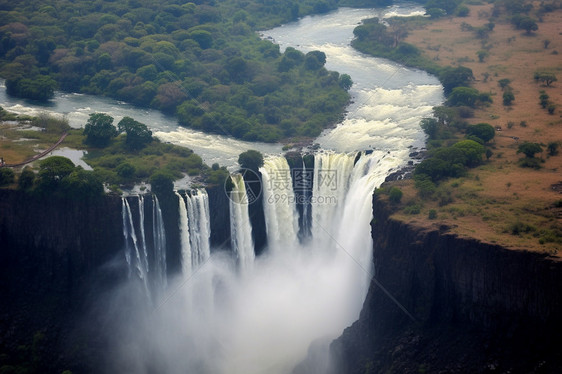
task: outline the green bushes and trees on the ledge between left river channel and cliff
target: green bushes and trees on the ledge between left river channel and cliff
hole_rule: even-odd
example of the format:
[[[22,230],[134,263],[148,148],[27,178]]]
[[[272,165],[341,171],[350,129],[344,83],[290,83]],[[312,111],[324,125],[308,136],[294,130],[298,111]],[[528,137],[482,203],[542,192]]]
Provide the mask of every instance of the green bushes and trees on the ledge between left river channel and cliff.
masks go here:
[[[18,119],[3,110],[0,115]],[[12,130],[15,134],[4,130],[2,136],[23,134],[34,144],[52,144],[62,132],[68,132],[65,145],[87,150],[84,159],[93,170],[76,167],[65,157],[53,156],[41,161],[36,169],[27,166],[19,176],[11,168],[0,168],[0,186],[79,198],[99,196],[104,184],[119,191],[143,181],[173,183],[185,175],[195,178],[196,183],[209,185],[221,185],[228,177],[226,168],[218,164],[209,167],[190,149],[161,143],[152,137],[145,124],[133,118],[123,118],[116,127],[111,116],[93,113],[83,130],[70,129],[65,119],[46,115],[25,121],[42,131],[16,128]],[[92,134],[97,136],[94,140],[89,139]]]

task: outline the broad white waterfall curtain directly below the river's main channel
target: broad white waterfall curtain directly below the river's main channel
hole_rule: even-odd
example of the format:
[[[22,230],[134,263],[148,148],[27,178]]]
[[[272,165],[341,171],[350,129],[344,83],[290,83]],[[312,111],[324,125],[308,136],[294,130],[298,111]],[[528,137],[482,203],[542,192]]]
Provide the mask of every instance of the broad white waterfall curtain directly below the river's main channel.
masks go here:
[[[355,153],[319,153],[314,156],[311,231],[318,248],[328,245],[337,229],[355,158]]]

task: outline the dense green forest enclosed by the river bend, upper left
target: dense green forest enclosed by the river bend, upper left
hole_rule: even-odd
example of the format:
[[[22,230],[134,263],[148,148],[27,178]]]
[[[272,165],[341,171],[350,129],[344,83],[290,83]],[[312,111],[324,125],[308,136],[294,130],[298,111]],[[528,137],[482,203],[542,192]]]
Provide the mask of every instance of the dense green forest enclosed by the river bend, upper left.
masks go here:
[[[340,119],[349,76],[328,72],[321,53],[282,54],[255,31],[336,6],[337,0],[0,1],[0,76],[12,95],[107,95],[246,140],[316,136]]]

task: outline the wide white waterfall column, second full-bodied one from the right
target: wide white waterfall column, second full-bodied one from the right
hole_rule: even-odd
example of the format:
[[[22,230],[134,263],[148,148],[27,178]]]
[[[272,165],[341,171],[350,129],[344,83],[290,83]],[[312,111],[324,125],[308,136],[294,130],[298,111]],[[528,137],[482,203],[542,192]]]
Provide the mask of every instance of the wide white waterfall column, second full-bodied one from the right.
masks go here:
[[[285,157],[265,160],[262,174],[263,210],[270,250],[298,244],[298,214],[291,169]]]

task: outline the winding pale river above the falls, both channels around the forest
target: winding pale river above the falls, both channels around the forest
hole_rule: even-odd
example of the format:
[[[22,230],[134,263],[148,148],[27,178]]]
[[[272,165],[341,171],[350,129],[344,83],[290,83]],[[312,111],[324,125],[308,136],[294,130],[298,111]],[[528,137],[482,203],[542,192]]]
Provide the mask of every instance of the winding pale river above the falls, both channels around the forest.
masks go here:
[[[324,131],[316,140],[322,149],[398,152],[397,156],[406,162],[409,148],[423,147],[424,135],[419,121],[442,102],[439,81],[423,71],[366,56],[350,46],[353,29],[362,19],[419,14],[423,14],[423,8],[412,4],[384,9],[341,8],[262,33],[282,50],[292,46],[303,52],[323,51],[327,55],[328,69],[351,76],[354,82],[350,90],[352,102],[344,121]],[[8,96],[3,81],[0,82],[0,105],[20,114],[64,115],[76,128],[83,127],[93,112],[107,113],[115,122],[130,116],[146,123],[162,141],[191,148],[209,165],[218,162],[234,168],[238,155],[244,150],[257,149],[271,155],[280,154],[282,148],[280,144],[244,142],[179,127],[174,117],[106,97],[57,92],[50,103],[39,105]]]

